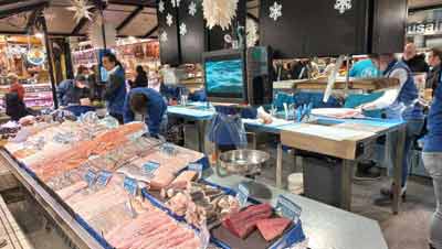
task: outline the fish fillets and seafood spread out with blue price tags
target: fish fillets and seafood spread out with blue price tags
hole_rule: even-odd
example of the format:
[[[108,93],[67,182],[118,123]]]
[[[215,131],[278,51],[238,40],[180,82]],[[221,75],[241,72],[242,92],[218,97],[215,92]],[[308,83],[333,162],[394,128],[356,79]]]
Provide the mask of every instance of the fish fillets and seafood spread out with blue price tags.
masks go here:
[[[293,224],[269,204],[242,208],[233,191],[201,178],[203,154],[145,133],[88,113],[36,121],[4,149],[116,249],[218,248],[208,238],[219,227],[274,241]]]

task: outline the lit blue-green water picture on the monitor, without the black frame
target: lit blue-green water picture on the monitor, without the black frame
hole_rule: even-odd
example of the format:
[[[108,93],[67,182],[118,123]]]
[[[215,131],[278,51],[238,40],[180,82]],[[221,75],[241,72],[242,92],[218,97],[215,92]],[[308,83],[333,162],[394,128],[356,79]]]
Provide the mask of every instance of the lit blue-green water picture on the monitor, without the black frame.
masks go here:
[[[206,80],[207,91],[210,94],[242,95],[242,59],[206,62]]]

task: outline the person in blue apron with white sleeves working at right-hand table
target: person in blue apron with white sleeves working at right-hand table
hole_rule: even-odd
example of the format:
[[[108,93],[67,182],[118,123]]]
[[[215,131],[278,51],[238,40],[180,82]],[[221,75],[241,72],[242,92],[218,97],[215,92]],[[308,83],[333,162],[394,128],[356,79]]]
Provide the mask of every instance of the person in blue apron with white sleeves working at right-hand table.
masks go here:
[[[397,61],[393,54],[372,55],[370,58],[383,73],[385,77],[397,78],[400,83],[399,87],[387,89],[382,97],[362,105],[361,110],[383,109],[387,119],[403,120],[407,122],[402,161],[402,188],[400,193],[404,197],[410,172],[411,148],[421,134],[424,123],[423,108],[419,104],[419,90],[414,84],[412,73],[406,63]],[[397,133],[387,138],[387,164],[390,177],[393,175],[398,138]],[[394,182],[391,183],[391,186],[382,187],[381,194],[391,198],[393,185]]]

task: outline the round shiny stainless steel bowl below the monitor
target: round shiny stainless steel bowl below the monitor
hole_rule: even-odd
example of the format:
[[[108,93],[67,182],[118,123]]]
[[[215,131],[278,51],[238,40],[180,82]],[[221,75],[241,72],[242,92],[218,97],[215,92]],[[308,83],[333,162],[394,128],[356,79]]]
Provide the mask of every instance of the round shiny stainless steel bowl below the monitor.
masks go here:
[[[270,159],[270,154],[257,150],[233,150],[219,158],[219,166],[228,173],[243,174],[261,167]]]

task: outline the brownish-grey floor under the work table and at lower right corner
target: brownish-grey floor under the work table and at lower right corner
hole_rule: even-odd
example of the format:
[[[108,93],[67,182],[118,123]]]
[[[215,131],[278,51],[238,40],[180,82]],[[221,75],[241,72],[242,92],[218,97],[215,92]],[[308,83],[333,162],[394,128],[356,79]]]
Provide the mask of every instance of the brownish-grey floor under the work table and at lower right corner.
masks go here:
[[[284,162],[283,165],[293,165],[293,162]],[[284,166],[283,175],[287,176],[291,173],[293,169]],[[272,165],[265,167],[257,181],[274,185],[274,167]],[[283,183],[286,186],[286,178]],[[387,184],[389,184],[388,177],[354,182],[352,212],[378,220],[390,249],[428,249],[429,221],[435,207],[431,182],[421,177],[410,180],[407,199],[398,216],[391,214],[389,204],[377,202],[380,198],[380,188]]]

